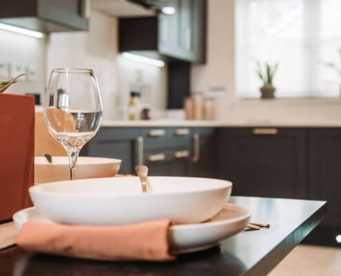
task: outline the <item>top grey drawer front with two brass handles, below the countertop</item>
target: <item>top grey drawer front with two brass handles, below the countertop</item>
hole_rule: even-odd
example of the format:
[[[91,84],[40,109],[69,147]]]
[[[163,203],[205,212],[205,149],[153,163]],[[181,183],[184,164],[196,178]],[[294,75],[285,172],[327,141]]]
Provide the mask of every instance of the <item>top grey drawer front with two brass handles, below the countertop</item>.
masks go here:
[[[189,128],[143,128],[143,147],[148,149],[184,147],[189,149]]]

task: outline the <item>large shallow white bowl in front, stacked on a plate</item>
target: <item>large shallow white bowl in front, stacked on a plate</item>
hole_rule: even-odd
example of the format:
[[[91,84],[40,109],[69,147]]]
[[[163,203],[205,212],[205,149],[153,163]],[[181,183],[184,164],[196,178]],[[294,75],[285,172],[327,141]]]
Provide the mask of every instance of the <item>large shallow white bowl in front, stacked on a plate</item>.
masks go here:
[[[231,194],[220,179],[149,177],[148,193],[138,177],[61,181],[32,186],[30,196],[43,215],[65,224],[114,225],[154,219],[189,224],[214,217]]]

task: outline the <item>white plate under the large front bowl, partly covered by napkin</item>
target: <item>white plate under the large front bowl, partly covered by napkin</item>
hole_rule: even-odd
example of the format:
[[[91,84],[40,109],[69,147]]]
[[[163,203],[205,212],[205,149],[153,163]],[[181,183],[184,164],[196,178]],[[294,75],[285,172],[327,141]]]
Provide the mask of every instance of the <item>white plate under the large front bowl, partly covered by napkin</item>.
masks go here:
[[[223,239],[240,232],[249,223],[251,213],[246,208],[225,204],[209,222],[182,224],[169,228],[169,244],[173,253],[188,253],[215,246]],[[23,209],[13,215],[15,226],[20,230],[27,221],[54,224],[37,208]]]

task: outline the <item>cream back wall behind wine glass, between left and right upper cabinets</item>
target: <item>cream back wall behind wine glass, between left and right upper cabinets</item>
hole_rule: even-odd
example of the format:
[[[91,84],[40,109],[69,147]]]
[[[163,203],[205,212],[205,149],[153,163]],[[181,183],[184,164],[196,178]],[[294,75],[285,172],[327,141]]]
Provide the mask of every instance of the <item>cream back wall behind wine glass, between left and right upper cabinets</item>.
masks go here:
[[[150,84],[152,109],[165,108],[165,68],[125,60],[118,53],[117,19],[92,10],[89,32],[50,35],[47,72],[52,68],[92,68],[99,80],[105,119],[120,119],[127,113],[130,83],[136,70]]]

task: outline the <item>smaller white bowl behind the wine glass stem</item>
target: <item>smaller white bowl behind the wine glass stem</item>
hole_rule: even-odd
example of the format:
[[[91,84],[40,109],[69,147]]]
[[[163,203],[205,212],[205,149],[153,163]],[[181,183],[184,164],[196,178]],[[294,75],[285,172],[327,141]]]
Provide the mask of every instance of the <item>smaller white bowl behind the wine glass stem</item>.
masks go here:
[[[78,157],[76,179],[114,177],[121,166],[120,159]],[[70,179],[68,157],[52,157],[52,164],[45,157],[34,157],[34,183],[41,184]]]

